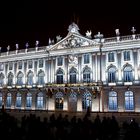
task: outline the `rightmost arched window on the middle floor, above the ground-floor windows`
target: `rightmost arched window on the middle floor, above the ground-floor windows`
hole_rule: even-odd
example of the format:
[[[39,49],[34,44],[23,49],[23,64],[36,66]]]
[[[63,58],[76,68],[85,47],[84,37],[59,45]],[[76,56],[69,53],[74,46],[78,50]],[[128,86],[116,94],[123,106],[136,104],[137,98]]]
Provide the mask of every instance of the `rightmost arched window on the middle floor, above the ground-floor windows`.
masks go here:
[[[131,66],[126,66],[123,70],[124,73],[124,82],[132,82],[132,68]]]

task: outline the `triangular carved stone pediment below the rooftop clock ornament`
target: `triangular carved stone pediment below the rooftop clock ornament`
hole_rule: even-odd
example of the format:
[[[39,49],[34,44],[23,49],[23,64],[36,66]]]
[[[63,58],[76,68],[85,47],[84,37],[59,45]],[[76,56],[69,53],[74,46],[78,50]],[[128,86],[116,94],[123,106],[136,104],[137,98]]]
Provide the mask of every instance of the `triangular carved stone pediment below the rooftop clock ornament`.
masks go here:
[[[73,33],[68,34],[65,38],[63,38],[56,44],[48,46],[48,50],[59,50],[73,47],[87,47],[95,44],[97,44],[97,42],[95,42],[94,40],[84,37],[80,34]]]

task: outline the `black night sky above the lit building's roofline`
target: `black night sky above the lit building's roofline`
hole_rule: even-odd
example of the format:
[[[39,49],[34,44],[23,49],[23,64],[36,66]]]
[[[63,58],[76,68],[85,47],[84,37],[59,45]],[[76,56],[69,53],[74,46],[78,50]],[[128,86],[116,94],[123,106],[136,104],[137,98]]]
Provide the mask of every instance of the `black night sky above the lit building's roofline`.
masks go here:
[[[116,28],[127,35],[132,26],[140,33],[140,8],[134,0],[4,0],[0,3],[0,46],[3,51],[7,45],[15,48],[16,43],[19,48],[26,42],[33,47],[35,40],[47,45],[49,37],[65,37],[73,21],[83,35],[91,29],[92,35],[100,31],[111,37]]]

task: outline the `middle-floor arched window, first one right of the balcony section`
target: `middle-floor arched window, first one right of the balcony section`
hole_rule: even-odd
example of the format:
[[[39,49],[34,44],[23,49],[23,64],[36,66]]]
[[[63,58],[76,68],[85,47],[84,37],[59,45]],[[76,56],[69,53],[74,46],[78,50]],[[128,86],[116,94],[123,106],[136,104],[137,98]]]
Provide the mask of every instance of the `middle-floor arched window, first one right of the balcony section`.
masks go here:
[[[115,67],[110,67],[108,69],[108,82],[109,83],[116,82],[116,69],[115,69]]]

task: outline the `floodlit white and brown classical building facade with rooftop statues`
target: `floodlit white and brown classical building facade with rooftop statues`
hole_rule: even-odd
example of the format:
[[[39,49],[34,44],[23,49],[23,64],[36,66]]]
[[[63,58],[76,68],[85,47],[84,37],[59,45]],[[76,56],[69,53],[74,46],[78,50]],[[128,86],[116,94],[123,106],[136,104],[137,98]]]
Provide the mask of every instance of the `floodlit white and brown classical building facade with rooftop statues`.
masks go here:
[[[83,36],[72,23],[48,46],[0,54],[0,107],[19,110],[140,112],[140,35]]]

